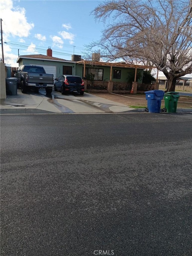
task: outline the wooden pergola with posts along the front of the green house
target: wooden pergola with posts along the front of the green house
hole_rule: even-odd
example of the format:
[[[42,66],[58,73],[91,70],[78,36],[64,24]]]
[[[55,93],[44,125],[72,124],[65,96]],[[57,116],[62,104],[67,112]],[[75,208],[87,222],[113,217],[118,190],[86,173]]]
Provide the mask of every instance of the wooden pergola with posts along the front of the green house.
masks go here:
[[[137,76],[137,69],[146,69],[146,68],[156,68],[151,66],[145,66],[145,65],[134,65],[134,64],[126,64],[121,62],[101,62],[101,61],[77,61],[76,63],[84,64],[84,70],[83,70],[83,76],[85,77],[85,65],[95,65],[95,66],[109,66],[110,67],[110,81],[112,80],[112,69],[113,67],[130,67],[135,68],[135,79],[134,82],[136,82],[136,76]],[[158,82],[158,71],[157,70],[157,79],[156,82]]]

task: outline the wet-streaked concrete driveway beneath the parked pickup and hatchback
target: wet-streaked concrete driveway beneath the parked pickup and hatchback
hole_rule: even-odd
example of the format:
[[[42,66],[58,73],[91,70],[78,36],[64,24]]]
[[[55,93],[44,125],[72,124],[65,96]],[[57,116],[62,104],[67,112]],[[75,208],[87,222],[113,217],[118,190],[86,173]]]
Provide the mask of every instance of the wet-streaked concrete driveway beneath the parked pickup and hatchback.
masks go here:
[[[7,96],[4,105],[1,105],[1,113],[117,113],[130,111],[133,108],[104,99],[89,93],[61,95],[60,92],[52,92],[46,95],[44,89],[39,93],[29,91],[22,94],[17,90],[16,96]]]

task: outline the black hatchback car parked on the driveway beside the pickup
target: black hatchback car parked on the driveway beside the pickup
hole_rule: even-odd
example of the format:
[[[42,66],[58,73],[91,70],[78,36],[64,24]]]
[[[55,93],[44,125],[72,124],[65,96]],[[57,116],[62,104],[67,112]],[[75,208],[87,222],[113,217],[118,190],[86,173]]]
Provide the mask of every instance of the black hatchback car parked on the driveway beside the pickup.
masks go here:
[[[84,94],[84,82],[80,76],[61,75],[55,78],[54,90],[62,94],[67,92],[79,92]]]

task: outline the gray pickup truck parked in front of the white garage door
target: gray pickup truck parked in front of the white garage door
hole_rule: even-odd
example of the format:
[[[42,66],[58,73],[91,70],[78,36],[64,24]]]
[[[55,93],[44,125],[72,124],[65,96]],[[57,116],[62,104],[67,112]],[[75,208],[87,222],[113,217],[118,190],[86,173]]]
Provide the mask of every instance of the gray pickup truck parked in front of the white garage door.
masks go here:
[[[27,92],[27,89],[34,89],[35,92],[39,92],[39,88],[45,88],[47,94],[52,92],[53,74],[46,74],[43,67],[22,65],[14,72],[22,93]]]

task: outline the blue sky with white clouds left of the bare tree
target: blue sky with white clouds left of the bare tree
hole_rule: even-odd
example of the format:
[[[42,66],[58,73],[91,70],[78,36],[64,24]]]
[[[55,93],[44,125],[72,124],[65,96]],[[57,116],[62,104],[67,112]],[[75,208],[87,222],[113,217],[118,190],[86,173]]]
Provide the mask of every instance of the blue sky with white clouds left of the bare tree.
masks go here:
[[[44,54],[71,59],[83,55],[85,45],[101,36],[103,23],[90,12],[99,1],[1,0],[4,62],[17,66],[19,55]],[[2,57],[2,52],[0,58]]]

